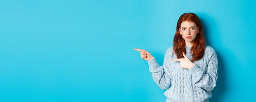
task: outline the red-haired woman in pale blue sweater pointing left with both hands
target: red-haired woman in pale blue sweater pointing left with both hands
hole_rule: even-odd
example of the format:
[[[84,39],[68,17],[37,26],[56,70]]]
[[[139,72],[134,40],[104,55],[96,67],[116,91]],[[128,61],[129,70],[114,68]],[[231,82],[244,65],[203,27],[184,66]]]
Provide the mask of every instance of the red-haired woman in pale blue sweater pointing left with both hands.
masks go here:
[[[163,66],[146,50],[134,50],[148,62],[157,85],[167,89],[166,102],[208,102],[218,78],[218,59],[215,50],[205,43],[198,16],[184,13],[177,22],[173,46],[166,51]]]

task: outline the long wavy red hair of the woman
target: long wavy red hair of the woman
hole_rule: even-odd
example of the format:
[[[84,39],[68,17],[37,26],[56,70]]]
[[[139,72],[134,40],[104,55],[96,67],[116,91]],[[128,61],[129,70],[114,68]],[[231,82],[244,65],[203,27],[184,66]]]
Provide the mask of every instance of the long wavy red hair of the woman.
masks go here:
[[[202,59],[205,50],[205,39],[203,35],[203,27],[201,22],[195,13],[184,13],[180,16],[177,27],[176,27],[176,34],[173,38],[173,54],[177,55],[177,58],[184,58],[182,52],[186,54],[186,47],[185,47],[185,40],[180,35],[180,25],[184,21],[194,22],[196,26],[199,26],[199,33],[196,35],[193,46],[191,47],[190,53],[192,54],[192,62]]]

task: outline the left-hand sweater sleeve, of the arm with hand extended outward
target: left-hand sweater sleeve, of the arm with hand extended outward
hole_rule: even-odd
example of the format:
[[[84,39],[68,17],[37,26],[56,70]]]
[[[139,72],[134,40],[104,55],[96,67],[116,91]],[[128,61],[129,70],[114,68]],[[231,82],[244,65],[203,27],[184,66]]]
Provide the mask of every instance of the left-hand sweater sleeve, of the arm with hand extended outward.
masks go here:
[[[166,53],[167,54],[167,53]],[[161,89],[167,89],[171,85],[171,75],[166,68],[166,55],[164,58],[164,65],[159,66],[155,58],[148,61],[149,71],[152,73],[153,80]]]

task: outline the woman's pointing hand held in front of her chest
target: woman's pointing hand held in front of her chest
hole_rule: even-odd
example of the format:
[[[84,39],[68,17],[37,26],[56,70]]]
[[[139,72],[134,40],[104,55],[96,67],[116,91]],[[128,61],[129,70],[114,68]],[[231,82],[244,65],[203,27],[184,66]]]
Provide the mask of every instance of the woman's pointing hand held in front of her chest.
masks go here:
[[[193,67],[194,63],[189,60],[189,58],[184,54],[184,52],[182,52],[182,55],[184,56],[184,58],[173,59],[171,61],[180,61],[180,66],[185,69]]]

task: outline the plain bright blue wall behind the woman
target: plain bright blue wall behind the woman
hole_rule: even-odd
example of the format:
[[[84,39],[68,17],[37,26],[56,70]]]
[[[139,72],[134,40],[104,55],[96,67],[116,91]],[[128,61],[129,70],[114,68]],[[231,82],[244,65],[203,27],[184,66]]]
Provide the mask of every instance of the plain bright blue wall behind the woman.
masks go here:
[[[177,20],[198,15],[218,55],[211,102],[255,100],[255,0],[1,0],[0,102],[165,102],[162,65]]]

